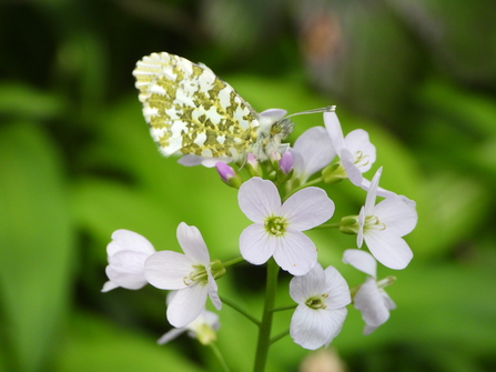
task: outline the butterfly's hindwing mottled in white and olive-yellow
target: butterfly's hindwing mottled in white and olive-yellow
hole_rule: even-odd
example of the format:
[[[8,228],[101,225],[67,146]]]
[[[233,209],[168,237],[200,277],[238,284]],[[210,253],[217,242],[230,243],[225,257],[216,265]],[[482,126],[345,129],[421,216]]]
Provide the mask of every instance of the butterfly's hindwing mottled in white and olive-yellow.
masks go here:
[[[153,53],[136,63],[133,76],[152,138],[165,157],[237,158],[256,142],[259,114],[206,66]]]

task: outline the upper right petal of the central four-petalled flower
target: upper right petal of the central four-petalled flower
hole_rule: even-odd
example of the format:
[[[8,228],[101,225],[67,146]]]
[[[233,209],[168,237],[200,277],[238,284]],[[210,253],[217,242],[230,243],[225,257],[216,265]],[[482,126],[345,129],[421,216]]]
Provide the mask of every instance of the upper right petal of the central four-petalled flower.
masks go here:
[[[281,215],[292,229],[305,231],[327,221],[334,213],[334,202],[320,188],[305,188],[292,194],[281,208]]]

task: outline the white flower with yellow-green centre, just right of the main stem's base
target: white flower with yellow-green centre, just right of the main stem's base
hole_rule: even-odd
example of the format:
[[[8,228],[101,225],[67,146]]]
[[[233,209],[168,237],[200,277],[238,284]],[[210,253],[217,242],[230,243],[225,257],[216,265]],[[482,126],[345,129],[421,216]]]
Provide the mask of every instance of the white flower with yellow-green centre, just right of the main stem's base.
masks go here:
[[[290,295],[298,304],[290,325],[293,341],[308,350],[327,348],[340,333],[351,302],[344,278],[333,267],[324,271],[317,263],[306,275],[291,280]]]

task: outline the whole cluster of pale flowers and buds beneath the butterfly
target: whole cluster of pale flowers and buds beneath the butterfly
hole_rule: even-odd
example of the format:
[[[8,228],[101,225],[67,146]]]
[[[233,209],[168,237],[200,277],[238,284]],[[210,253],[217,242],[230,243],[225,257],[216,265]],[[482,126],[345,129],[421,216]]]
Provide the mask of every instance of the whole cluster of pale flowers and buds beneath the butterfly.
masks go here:
[[[221,180],[239,189],[240,210],[252,222],[240,234],[240,258],[229,262],[211,260],[200,231],[184,222],[176,233],[184,253],[155,251],[135,232],[118,230],[112,234],[107,248],[109,282],[102,291],[118,286],[136,290],[146,283],[171,291],[166,318],[175,329],[165,333],[160,343],[185,331],[203,344],[212,343],[220,323],[217,314],[205,310],[207,298],[221,310],[216,280],[227,267],[243,261],[267,268],[276,264],[293,275],[289,296],[296,305],[292,306],[295,310],[289,333],[305,349],[327,346],[340,333],[346,306],[352,302],[362,312],[365,334],[386,322],[395,309],[384,291],[394,277],[377,280],[376,267],[377,262],[394,270],[408,265],[413,252],[403,237],[415,228],[417,213],[415,202],[379,188],[382,168],[371,181],[363,175],[376,160],[367,132],[358,129],[344,137],[336,113],[330,111],[324,113],[323,127],[308,129],[293,147],[281,149],[269,153],[264,161],[249,153],[237,170],[215,163]],[[364,204],[356,214],[328,223],[335,204],[315,184],[345,179],[366,192]],[[382,198],[378,203],[377,198]],[[350,289],[335,267],[318,263],[317,248],[304,233],[314,228],[337,228],[356,234],[357,249],[344,250],[343,262],[367,274],[363,284]],[[370,253],[360,250],[364,242]],[[265,310],[272,316],[273,309]],[[255,323],[261,328],[265,324],[264,320]]]

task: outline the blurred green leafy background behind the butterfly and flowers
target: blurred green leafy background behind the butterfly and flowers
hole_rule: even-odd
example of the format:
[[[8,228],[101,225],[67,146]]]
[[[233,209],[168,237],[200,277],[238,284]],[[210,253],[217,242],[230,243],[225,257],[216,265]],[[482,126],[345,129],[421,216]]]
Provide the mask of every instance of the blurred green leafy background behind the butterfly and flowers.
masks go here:
[[[100,292],[117,229],[180,250],[185,221],[227,260],[249,223],[214,170],[180,167],[150,139],[131,71],[155,51],[204,62],[259,111],[337,104],[345,133],[370,132],[382,185],[417,202],[414,260],[379,270],[398,278],[397,310],[363,336],[350,306],[332,343],[348,371],[496,369],[496,2],[3,0],[0,46],[1,371],[220,370],[188,336],[156,345],[164,292]],[[295,123],[291,141],[323,124]],[[365,198],[347,181],[326,191],[333,221]],[[341,263],[353,237],[308,235],[323,265],[364,280]],[[257,315],[263,277],[239,265],[220,293]],[[227,306],[220,315],[227,363],[250,371],[254,326]],[[267,371],[297,371],[308,354],[281,340]]]

